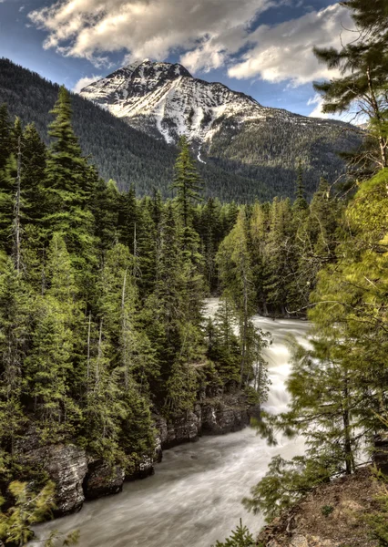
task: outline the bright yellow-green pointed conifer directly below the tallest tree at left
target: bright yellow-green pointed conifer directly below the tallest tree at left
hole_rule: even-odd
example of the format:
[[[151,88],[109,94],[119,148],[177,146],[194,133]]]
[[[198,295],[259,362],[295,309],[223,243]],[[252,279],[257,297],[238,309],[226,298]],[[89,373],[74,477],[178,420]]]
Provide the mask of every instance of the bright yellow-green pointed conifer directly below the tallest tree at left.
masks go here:
[[[46,293],[36,301],[27,381],[43,438],[61,439],[79,420],[71,389],[79,386],[84,374],[79,359],[83,317],[70,256],[58,233],[50,243],[46,280]]]

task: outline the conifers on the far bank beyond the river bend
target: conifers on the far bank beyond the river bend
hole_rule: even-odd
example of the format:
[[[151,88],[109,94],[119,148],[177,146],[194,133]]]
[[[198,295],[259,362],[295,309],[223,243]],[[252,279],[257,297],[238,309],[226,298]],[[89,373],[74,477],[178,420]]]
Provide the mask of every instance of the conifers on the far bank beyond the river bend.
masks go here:
[[[221,285],[230,291],[242,268],[247,301],[261,315],[305,316],[320,269],[336,261],[343,201],[322,179],[309,204],[302,179],[300,166],[293,202],[275,198],[240,207],[220,244]]]

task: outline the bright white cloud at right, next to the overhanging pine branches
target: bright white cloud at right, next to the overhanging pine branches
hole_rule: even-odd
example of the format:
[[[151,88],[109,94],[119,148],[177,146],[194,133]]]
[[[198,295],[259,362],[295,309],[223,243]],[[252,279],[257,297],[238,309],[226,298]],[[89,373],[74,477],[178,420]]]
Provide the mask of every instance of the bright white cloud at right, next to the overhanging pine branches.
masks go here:
[[[352,28],[352,20],[349,10],[339,4],[277,26],[259,26],[250,33],[250,42],[255,45],[230,67],[229,75],[239,79],[261,77],[270,82],[290,80],[295,86],[336,76],[335,71],[318,63],[312,46],[340,47],[341,40],[346,43],[353,38],[344,28]]]

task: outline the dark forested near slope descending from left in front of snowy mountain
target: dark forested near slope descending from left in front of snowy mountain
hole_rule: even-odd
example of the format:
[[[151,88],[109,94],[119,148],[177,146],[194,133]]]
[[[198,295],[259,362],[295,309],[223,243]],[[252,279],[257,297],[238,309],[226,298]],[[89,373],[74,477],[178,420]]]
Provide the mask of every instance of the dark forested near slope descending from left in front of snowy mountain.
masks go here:
[[[9,113],[24,123],[34,122],[46,143],[49,111],[54,107],[58,89],[38,74],[0,59],[0,104],[6,103]],[[121,190],[133,185],[139,196],[150,194],[153,188],[163,197],[171,196],[168,187],[177,154],[174,146],[128,127],[77,94],[72,94],[72,104],[74,128],[82,149],[104,179],[113,179]],[[222,201],[254,201],[258,196],[271,199],[276,193],[259,180],[217,166],[199,165],[199,171],[205,182],[204,194]],[[283,193],[291,196],[291,187],[284,188]]]

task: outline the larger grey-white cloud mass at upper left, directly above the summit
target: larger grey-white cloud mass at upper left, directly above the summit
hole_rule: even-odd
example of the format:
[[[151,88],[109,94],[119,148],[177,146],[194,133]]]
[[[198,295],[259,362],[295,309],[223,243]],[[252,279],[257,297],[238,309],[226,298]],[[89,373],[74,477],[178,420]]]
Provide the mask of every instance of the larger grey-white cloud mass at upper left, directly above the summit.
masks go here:
[[[195,50],[217,66],[243,46],[247,27],[269,5],[283,0],[59,0],[29,14],[48,32],[44,46],[95,64],[108,52],[127,50],[131,59],[164,59],[177,48]],[[202,49],[201,49],[202,48]],[[225,51],[225,53],[222,53]],[[196,64],[192,53],[191,66]],[[203,61],[199,63],[203,65]]]

